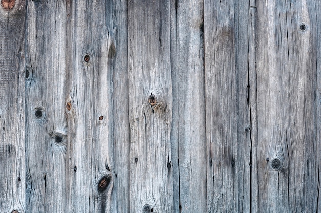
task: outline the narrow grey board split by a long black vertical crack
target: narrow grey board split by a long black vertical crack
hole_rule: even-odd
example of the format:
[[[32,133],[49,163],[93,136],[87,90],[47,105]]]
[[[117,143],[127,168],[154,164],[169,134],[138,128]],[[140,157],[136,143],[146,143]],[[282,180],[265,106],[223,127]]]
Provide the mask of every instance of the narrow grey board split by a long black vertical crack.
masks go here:
[[[256,76],[255,1],[234,1],[237,103],[238,211],[255,211]],[[254,163],[254,167],[256,164]],[[254,197],[253,197],[254,195]],[[252,199],[253,198],[253,199]],[[253,208],[252,208],[253,206]]]

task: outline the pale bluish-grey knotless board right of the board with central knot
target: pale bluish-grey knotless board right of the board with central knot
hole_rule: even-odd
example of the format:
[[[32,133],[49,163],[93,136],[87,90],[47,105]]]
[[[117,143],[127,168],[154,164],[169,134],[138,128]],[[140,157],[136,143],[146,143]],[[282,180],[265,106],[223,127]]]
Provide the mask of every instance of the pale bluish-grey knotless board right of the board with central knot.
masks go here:
[[[171,133],[175,212],[206,212],[203,1],[172,1]]]

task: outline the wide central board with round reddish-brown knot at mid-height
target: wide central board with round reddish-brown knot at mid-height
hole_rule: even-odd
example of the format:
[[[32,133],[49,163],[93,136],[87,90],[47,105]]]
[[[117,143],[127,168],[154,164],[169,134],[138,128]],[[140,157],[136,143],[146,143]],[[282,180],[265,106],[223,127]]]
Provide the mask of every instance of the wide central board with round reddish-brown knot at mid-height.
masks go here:
[[[173,212],[169,21],[168,1],[128,2],[130,212]]]

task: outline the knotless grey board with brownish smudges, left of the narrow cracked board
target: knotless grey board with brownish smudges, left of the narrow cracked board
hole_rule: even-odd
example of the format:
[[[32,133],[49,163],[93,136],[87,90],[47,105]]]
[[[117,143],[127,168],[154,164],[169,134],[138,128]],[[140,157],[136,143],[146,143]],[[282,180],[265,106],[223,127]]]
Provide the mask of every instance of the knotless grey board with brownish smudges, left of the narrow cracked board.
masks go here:
[[[234,33],[234,3],[204,1],[209,212],[234,212],[238,205]]]

